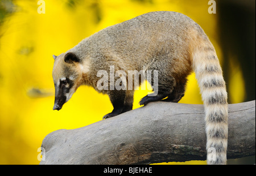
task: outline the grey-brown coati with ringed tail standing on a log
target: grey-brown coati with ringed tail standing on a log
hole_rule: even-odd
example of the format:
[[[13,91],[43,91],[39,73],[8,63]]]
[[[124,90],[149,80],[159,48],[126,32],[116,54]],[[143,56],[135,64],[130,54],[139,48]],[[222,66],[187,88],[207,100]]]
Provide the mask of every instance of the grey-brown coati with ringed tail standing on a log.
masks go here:
[[[171,11],[149,12],[102,29],[53,58],[53,110],[60,110],[76,89],[85,84],[109,95],[114,109],[104,118],[131,110],[134,90],[98,90],[99,70],[108,71],[110,66],[124,71],[158,70],[158,94],[143,97],[141,105],[152,101],[178,102],[184,96],[187,76],[195,71],[205,107],[208,164],[226,164],[225,81],[214,46],[188,16]],[[211,151],[216,156],[212,157]]]

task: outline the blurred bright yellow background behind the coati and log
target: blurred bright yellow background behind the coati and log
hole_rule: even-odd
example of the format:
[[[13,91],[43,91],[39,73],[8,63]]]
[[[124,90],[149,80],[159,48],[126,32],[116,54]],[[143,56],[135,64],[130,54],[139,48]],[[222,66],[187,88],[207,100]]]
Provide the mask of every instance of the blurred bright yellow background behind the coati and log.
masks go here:
[[[15,12],[5,18],[0,28],[0,164],[39,164],[38,148],[47,134],[101,121],[112,111],[108,96],[90,87],[80,87],[63,109],[52,110],[52,54],[65,52],[100,29],[150,11],[181,12],[201,25],[222,64],[217,16],[208,13],[208,1],[45,0],[46,14],[38,14],[37,2],[14,1]],[[230,84],[236,86],[229,98],[232,103],[242,102],[240,67],[231,67]],[[135,92],[134,109],[139,108],[138,102],[146,94]],[[202,104],[194,74],[189,76],[180,102]]]

